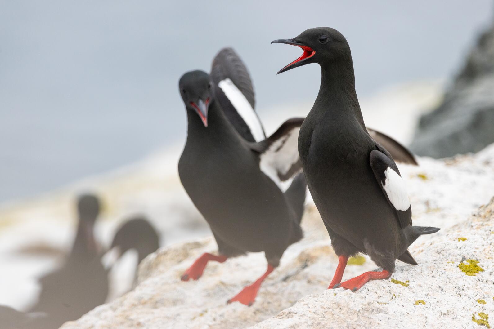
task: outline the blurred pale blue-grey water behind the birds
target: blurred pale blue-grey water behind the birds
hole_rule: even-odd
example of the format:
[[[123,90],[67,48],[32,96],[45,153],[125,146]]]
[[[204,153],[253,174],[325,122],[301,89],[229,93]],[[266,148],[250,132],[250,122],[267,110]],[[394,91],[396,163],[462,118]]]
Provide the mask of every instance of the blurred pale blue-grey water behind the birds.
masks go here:
[[[270,41],[310,27],[338,29],[366,97],[400,82],[450,77],[492,9],[490,0],[2,0],[0,203],[181,144],[178,78],[207,71],[223,46],[247,63],[261,118],[277,111],[281,122],[284,107],[310,106],[319,68],[276,76],[300,51]]]

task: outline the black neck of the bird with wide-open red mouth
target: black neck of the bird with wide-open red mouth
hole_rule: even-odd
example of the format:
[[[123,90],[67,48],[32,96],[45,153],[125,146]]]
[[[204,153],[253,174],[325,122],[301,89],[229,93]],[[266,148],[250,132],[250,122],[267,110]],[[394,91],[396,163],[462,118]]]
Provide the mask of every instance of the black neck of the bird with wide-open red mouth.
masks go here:
[[[314,107],[320,119],[354,121],[365,127],[355,92],[355,74],[351,58],[322,63],[321,86]]]

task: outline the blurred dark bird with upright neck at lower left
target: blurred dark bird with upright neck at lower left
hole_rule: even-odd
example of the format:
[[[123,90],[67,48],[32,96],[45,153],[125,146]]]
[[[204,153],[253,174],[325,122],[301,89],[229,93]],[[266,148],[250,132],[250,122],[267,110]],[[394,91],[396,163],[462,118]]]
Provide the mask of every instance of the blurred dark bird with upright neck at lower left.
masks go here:
[[[66,321],[79,319],[103,304],[108,295],[108,273],[94,240],[99,200],[91,194],[82,195],[77,206],[79,227],[72,250],[62,267],[40,279],[40,297],[31,309],[47,314],[43,320],[46,328],[58,328]]]

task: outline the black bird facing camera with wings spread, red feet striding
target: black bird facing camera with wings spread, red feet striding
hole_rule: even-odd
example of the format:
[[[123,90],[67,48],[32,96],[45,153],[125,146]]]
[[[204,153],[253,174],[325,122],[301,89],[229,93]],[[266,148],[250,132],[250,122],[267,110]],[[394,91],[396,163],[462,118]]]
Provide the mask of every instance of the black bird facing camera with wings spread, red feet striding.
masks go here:
[[[235,53],[220,54],[226,56],[216,57],[214,78],[192,71],[179,82],[188,118],[180,180],[208,222],[219,252],[199,257],[182,281],[197,280],[210,260],[264,251],[264,275],[228,300],[251,305],[285,249],[302,238],[306,183],[296,141],[303,119],[290,119],[265,138],[251,105],[247,69]],[[277,185],[293,176],[286,191]]]

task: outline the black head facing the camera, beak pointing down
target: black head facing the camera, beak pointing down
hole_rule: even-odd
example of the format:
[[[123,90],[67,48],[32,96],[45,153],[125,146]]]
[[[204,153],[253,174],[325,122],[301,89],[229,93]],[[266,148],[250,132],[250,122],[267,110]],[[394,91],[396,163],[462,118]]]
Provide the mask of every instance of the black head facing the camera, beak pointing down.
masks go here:
[[[207,110],[214,100],[211,77],[200,70],[187,72],[180,78],[178,87],[186,109],[195,111],[207,127]]]

